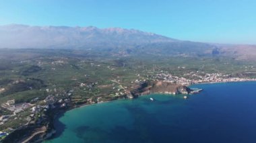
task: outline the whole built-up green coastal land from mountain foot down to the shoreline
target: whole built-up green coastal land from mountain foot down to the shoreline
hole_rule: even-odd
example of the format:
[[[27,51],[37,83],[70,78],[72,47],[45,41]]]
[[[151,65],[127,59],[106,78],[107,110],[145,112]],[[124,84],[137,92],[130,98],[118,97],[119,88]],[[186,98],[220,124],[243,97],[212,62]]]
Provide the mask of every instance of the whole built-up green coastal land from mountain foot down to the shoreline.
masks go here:
[[[5,75],[0,77],[0,140],[49,138],[55,133],[54,121],[59,115],[76,107],[153,93],[189,101],[192,94],[201,91],[190,89],[190,85],[256,81],[256,66],[227,61],[205,65],[185,62],[184,57],[179,59],[181,64],[173,61],[177,57],[162,63],[137,56],[32,59],[12,61],[10,68],[0,70]],[[229,68],[226,71],[219,66]],[[28,128],[30,132],[24,132]]]

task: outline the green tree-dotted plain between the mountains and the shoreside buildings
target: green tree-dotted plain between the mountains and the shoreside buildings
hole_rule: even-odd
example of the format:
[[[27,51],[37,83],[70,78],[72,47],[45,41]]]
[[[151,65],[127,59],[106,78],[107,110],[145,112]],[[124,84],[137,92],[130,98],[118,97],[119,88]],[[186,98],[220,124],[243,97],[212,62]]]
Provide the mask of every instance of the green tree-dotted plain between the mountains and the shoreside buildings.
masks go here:
[[[256,64],[222,56],[1,49],[0,103],[15,99],[15,103],[44,105],[42,101],[49,95],[57,99],[69,97],[73,105],[112,100],[122,98],[140,81],[155,80],[158,73],[177,77],[186,77],[187,73],[222,73],[255,78]],[[24,124],[30,112],[27,109],[18,117],[13,116],[13,121],[0,125],[0,130]],[[1,115],[11,115],[11,111],[1,108]]]

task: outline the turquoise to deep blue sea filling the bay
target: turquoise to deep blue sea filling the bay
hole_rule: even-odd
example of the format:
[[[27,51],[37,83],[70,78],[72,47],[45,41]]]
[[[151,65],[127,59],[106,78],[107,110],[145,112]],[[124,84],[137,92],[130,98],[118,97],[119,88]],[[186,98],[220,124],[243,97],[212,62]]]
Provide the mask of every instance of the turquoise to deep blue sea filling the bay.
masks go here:
[[[203,91],[187,100],[146,95],[67,111],[46,142],[256,142],[256,82],[193,87]]]

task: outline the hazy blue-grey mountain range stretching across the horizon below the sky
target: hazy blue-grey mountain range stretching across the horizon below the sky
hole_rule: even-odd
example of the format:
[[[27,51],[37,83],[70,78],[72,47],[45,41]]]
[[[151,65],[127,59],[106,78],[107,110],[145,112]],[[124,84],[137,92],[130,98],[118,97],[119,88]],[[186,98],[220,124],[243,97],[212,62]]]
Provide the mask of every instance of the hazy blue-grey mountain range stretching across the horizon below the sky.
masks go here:
[[[123,28],[0,26],[0,48],[65,48],[174,56],[233,56],[254,59],[256,46],[188,42]]]

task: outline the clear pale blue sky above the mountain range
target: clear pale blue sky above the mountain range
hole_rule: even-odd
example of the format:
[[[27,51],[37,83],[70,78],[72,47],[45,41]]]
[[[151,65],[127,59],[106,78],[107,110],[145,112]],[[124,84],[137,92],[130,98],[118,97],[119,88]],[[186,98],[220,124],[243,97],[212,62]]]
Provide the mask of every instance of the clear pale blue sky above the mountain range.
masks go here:
[[[96,26],[256,44],[255,0],[0,0],[0,25]]]

